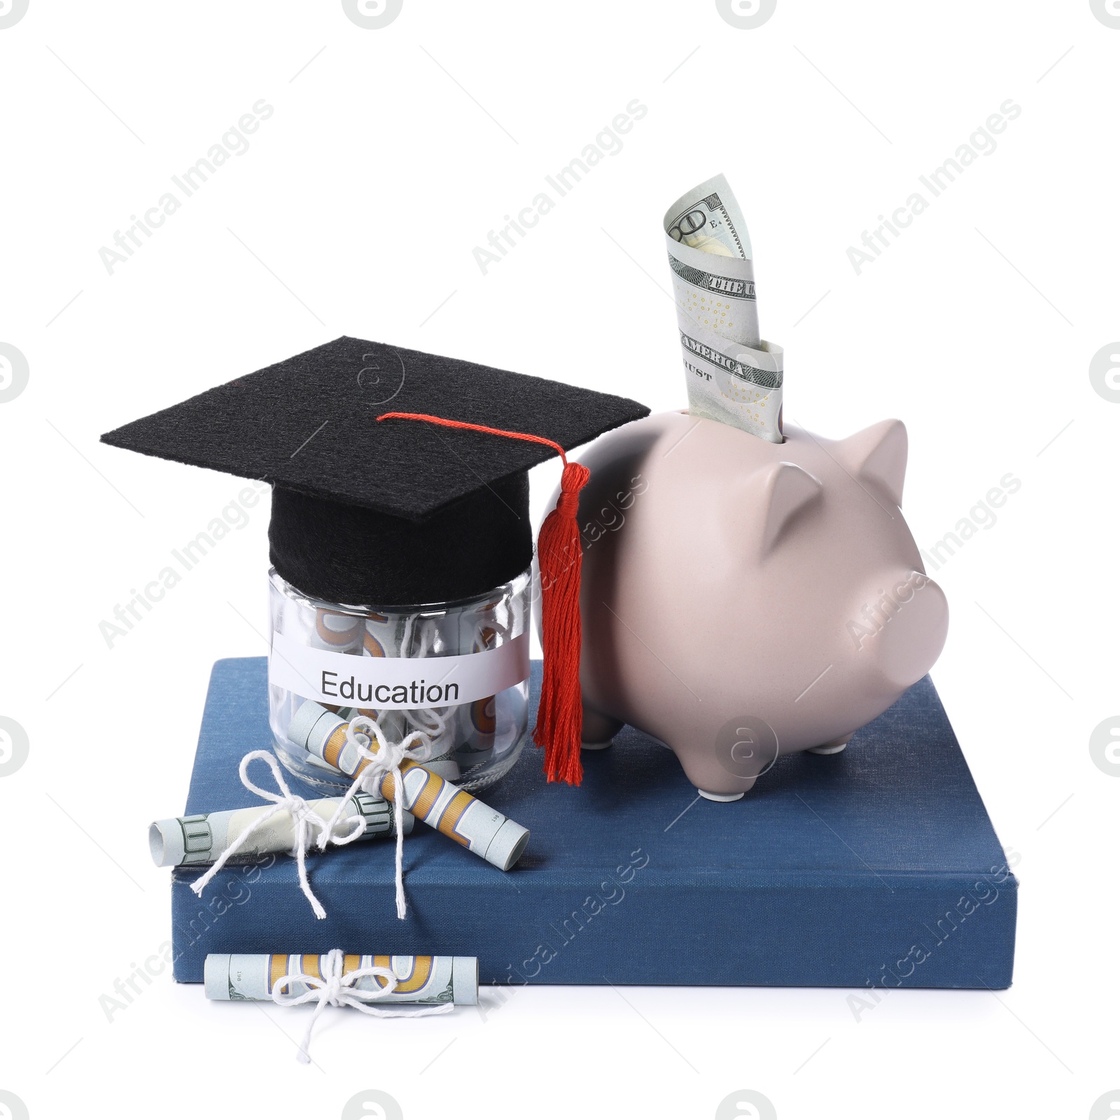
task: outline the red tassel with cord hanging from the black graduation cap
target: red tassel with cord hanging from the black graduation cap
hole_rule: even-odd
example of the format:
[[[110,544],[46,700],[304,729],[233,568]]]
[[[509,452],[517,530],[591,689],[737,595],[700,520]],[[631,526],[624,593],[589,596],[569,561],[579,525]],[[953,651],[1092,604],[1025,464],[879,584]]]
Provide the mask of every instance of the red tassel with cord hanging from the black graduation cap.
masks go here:
[[[536,560],[541,571],[541,629],[544,647],[544,682],[536,712],[533,741],[544,747],[544,773],[550,782],[579,785],[584,780],[580,740],[584,731],[584,699],[579,685],[579,653],[582,627],[579,617],[579,577],[584,562],[580,547],[579,492],[591,473],[579,463],[569,463],[563,448],[543,436],[505,431],[423,412],[385,412],[377,420],[423,420],[444,428],[466,428],[491,436],[523,439],[551,447],[563,460],[560,498],[544,519],[536,538]]]

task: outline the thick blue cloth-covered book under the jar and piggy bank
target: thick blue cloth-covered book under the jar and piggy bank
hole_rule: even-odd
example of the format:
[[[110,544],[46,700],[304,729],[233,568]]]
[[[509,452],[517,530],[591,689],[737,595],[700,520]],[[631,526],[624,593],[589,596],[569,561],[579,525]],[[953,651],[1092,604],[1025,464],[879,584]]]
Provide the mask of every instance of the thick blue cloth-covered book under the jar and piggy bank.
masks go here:
[[[534,697],[540,665],[533,666]],[[535,699],[533,701],[535,707]],[[264,657],[211,678],[186,813],[251,805],[237,777],[270,749]],[[263,768],[263,767],[262,767]],[[1016,889],[928,678],[839,755],[780,758],[744,799],[698,799],[633,728],[549,785],[532,745],[483,800],[532,831],[501,871],[417,822],[396,918],[393,840],[296,861],[171,872],[175,977],[207,953],[477,956],[483,983],[1007,988]],[[289,778],[293,792],[323,796]]]

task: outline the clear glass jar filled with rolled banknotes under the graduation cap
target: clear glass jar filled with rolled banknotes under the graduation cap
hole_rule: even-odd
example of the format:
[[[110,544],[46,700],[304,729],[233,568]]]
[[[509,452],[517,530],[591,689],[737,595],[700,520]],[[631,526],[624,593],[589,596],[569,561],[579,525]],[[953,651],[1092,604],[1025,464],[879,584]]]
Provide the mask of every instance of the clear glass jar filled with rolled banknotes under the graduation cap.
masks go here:
[[[288,737],[310,699],[375,720],[391,743],[422,731],[431,744],[424,766],[470,792],[493,785],[529,731],[530,577],[457,603],[377,607],[309,598],[272,569],[269,722],[280,760],[326,795],[349,785]],[[363,661],[371,657],[386,660]],[[456,661],[445,672],[438,662],[447,657]]]

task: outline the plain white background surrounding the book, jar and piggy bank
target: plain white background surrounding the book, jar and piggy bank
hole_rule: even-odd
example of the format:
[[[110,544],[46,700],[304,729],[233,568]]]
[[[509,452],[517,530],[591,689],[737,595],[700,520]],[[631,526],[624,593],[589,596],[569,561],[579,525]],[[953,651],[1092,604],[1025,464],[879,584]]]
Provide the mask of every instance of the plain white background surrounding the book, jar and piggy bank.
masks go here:
[[[0,1089],[34,1118],[335,1117],[368,1088],[410,1120],[708,1118],[747,1088],[782,1120],[1089,1116],[1120,1084],[1120,781],[1089,750],[1120,709],[1120,404],[1089,376],[1120,337],[1118,52],[1088,0],[778,0],[755,30],[709,0],[404,0],[381,30],[338,2],[30,0],[0,30],[0,342],[29,365],[0,404],[0,716],[30,743],[0,778]],[[110,276],[99,249],[259,99],[249,150]],[[623,149],[484,276],[472,250],[633,99]],[[997,150],[857,276],[848,248],[1007,99]],[[923,548],[1021,479],[936,572],[934,671],[1018,861],[1014,987],[861,1021],[843,990],[488,991],[485,1019],[332,1011],[319,1067],[293,1060],[304,1011],[166,973],[109,1021],[168,936],[144,827],[183,804],[211,664],[265,652],[268,513],[110,648],[99,624],[243,484],[97,436],[342,334],[682,407],[660,220],[719,170],[786,417],[903,418]]]

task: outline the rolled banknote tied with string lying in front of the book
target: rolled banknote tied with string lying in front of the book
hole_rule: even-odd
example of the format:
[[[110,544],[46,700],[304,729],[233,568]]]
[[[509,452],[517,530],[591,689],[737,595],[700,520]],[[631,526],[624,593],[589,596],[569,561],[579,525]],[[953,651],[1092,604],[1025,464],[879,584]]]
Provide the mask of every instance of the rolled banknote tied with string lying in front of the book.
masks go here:
[[[323,979],[325,959],[316,953],[207,953],[203,984],[207,999],[272,999],[278,981],[286,976]],[[356,969],[391,969],[396,987],[379,1002],[384,1004],[477,1004],[478,958],[476,956],[370,956],[347,953],[343,974]],[[360,977],[358,991],[384,989],[384,977]],[[308,984],[292,981],[280,991],[302,996]]]

